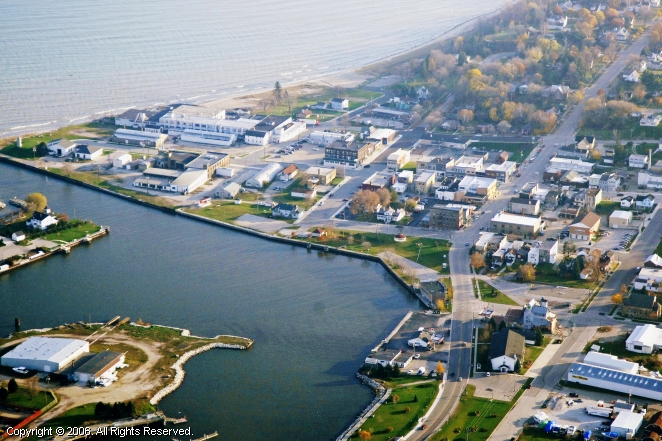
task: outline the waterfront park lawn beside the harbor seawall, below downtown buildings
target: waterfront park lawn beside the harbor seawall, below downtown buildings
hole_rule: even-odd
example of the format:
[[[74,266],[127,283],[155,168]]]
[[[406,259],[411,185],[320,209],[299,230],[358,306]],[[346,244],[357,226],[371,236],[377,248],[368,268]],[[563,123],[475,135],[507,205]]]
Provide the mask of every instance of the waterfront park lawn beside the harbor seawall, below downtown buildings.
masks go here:
[[[318,241],[317,239],[309,240]],[[414,262],[418,260],[421,265],[440,273],[448,274],[449,272],[448,257],[444,259],[443,256],[448,256],[450,243],[445,240],[408,237],[406,242],[395,242],[390,234],[338,231],[337,237],[325,239],[324,243],[329,246],[342,246],[348,250],[361,251],[372,255],[388,250]],[[421,244],[420,258],[418,257],[419,247],[417,245],[419,243]],[[446,268],[443,268],[443,263],[447,264]]]

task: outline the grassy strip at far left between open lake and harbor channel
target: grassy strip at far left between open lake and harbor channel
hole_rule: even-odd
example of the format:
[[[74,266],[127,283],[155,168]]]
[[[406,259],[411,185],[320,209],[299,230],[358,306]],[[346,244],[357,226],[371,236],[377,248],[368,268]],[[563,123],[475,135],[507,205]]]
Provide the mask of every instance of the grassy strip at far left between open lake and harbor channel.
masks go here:
[[[78,124],[75,126],[62,127],[57,130],[53,130],[49,133],[42,133],[35,136],[28,136],[22,139],[22,147],[16,145],[15,138],[6,138],[0,140],[0,150],[2,153],[8,156],[13,156],[15,158],[22,159],[32,159],[33,152],[32,148],[39,144],[40,142],[49,143],[54,139],[66,138],[66,139],[93,139],[91,136],[82,136],[76,134],[76,131],[84,131],[90,134],[96,135],[96,138],[101,138],[104,136],[111,136],[117,127],[114,125],[100,124],[96,122],[91,122],[87,124]]]

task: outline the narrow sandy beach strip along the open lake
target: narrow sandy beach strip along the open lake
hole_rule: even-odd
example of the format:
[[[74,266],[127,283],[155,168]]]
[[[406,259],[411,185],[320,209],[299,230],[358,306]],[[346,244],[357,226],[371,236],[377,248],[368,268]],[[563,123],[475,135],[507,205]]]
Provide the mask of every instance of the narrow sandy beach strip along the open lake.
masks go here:
[[[478,22],[481,19],[485,19],[494,15],[497,15],[501,13],[504,9],[506,9],[509,6],[514,5],[517,3],[519,0],[504,0],[503,4],[493,11],[489,12],[484,12],[479,15],[473,16],[471,18],[467,18],[464,21],[460,23],[456,23],[455,25],[451,26],[449,29],[444,30],[441,34],[438,34],[432,38],[430,38],[428,41],[421,43],[419,45],[404,49],[400,52],[396,52],[395,54],[388,55],[382,58],[379,58],[374,61],[370,61],[367,64],[364,64],[362,66],[358,67],[350,67],[347,69],[340,69],[335,72],[329,72],[326,74],[320,74],[319,77],[311,79],[311,80],[301,80],[301,81],[295,81],[292,83],[287,83],[283,85],[283,89],[288,89],[288,88],[297,88],[304,86],[306,84],[310,84],[312,86],[318,86],[318,87],[333,87],[334,85],[342,86],[342,87],[347,87],[347,88],[354,88],[354,87],[359,87],[363,83],[365,83],[367,80],[372,79],[374,75],[370,75],[367,73],[370,69],[376,69],[379,67],[380,64],[386,63],[389,61],[395,61],[399,58],[405,59],[408,56],[412,56],[419,51],[429,51],[430,47],[433,45],[439,44],[441,41],[448,39],[448,38],[453,38],[457,37],[458,35],[464,35],[467,32],[471,32],[475,26],[478,24]],[[323,84],[321,84],[323,83]],[[234,88],[236,89],[236,87]],[[223,108],[234,108],[234,107],[245,107],[245,103],[248,100],[251,100],[251,96],[254,95],[260,95],[265,92],[271,91],[271,87],[265,87],[265,88],[256,88],[250,91],[239,91],[239,92],[224,92],[227,94],[226,96],[210,99],[210,100],[204,100],[204,101],[188,101],[188,100],[183,100],[183,101],[178,101],[178,100],[173,100],[169,102],[164,102],[163,105],[168,105],[176,102],[184,102],[184,103],[190,103],[190,104],[196,104],[200,105],[203,107],[209,107],[209,106],[214,106],[214,107],[223,107]],[[152,103],[154,102],[161,102],[161,99],[152,99],[149,100]],[[243,102],[242,102],[243,101]],[[242,106],[242,104],[244,104]],[[115,106],[116,109],[114,110],[128,110],[132,108],[137,108],[137,107],[150,107],[151,105],[145,104],[144,106],[135,106],[135,105],[117,105]],[[108,106],[106,106],[107,108]],[[84,124],[88,123],[91,121],[95,121],[99,118],[107,117],[108,111],[107,110],[102,110],[98,112],[93,112],[90,115],[86,115],[84,117],[79,117],[75,118],[74,120],[68,121],[66,124],[58,124],[57,121],[53,122],[46,122],[46,123],[26,123],[24,126],[20,127],[20,130],[12,130],[12,128],[7,128],[3,134],[1,135],[2,139],[11,139],[11,138],[16,138],[16,137],[26,137],[26,136],[34,136],[37,134],[41,133],[47,133],[51,132],[53,130],[57,130],[63,127],[68,127],[73,124]],[[54,124],[54,125],[51,125]],[[40,129],[39,127],[45,127]]]

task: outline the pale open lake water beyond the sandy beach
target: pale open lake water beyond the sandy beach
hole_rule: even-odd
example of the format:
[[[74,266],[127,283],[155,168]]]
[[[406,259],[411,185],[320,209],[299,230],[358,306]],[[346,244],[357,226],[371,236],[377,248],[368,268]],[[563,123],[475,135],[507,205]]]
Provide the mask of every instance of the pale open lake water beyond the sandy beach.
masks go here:
[[[0,136],[318,78],[505,0],[0,2]]]

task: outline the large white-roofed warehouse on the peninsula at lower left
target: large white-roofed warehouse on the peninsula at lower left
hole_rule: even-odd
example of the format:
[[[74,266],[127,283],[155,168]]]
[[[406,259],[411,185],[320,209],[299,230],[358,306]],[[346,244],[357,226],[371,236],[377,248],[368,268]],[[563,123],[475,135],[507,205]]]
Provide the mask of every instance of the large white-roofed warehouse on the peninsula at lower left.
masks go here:
[[[0,358],[0,365],[32,371],[57,372],[90,351],[90,344],[73,338],[30,337]]]

